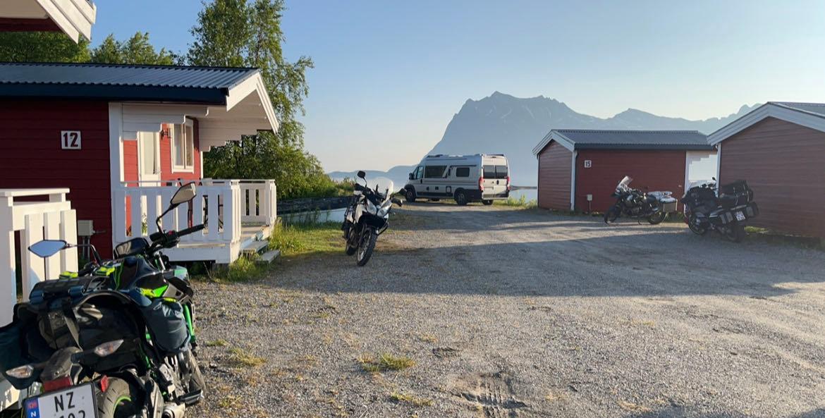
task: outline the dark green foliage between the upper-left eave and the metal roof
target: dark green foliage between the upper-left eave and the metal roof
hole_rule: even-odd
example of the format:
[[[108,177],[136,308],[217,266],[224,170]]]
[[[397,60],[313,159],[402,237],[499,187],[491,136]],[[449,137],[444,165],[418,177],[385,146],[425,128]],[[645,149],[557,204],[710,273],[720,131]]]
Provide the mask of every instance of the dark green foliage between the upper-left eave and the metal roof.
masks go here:
[[[86,63],[89,43],[75,43],[63,32],[0,32],[0,61],[10,63]]]

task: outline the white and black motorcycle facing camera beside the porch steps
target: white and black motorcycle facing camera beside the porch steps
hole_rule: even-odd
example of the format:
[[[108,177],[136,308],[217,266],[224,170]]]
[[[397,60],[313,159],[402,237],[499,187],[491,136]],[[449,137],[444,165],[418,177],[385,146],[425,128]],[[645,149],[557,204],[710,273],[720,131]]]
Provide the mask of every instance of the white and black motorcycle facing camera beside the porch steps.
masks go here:
[[[364,186],[356,180],[354,198],[344,214],[341,229],[347,240],[347,256],[356,254],[356,264],[362,266],[370,261],[378,236],[389,227],[393,204],[403,204],[392,197],[393,181],[378,177],[375,187],[370,189],[364,171],[358,171],[358,178]]]

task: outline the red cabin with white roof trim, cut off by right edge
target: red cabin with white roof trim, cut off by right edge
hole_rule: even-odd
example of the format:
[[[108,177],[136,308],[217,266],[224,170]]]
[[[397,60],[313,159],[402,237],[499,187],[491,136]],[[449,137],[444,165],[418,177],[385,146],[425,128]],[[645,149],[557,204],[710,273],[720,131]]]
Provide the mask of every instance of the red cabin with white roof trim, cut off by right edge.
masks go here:
[[[825,104],[768,102],[710,134],[720,184],[744,180],[759,204],[748,223],[825,237]]]

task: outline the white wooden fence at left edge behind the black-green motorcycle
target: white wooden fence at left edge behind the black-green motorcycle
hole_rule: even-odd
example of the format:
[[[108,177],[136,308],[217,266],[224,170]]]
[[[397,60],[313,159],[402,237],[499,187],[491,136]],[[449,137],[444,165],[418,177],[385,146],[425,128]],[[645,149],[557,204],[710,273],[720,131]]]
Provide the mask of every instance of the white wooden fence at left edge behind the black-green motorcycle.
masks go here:
[[[20,270],[23,300],[36,283],[56,279],[61,271],[78,270],[78,251],[60,251],[45,261],[26,249],[42,239],[77,244],[77,214],[66,200],[68,189],[0,190],[0,326],[12,322],[17,302],[15,232],[20,232]],[[0,411],[17,402],[19,394],[0,378]]]

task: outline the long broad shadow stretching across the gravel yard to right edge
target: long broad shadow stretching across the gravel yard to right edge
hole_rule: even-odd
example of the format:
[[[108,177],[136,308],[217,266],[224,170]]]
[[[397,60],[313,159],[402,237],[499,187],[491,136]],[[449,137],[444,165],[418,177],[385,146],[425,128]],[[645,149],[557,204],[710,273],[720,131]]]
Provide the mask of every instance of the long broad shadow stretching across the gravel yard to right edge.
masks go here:
[[[695,241],[704,242],[702,251],[694,254],[680,254],[666,245],[676,242],[685,248]],[[747,247],[751,246],[690,233],[654,231],[457,247],[379,247],[366,267],[357,267],[346,256],[310,257],[285,265],[291,271],[276,272],[270,283],[328,293],[649,298],[728,294],[771,303],[771,297],[795,291],[776,284],[823,281],[822,257],[806,257],[798,250],[753,256]],[[723,256],[714,258],[724,264],[703,259],[708,251],[719,251]]]

